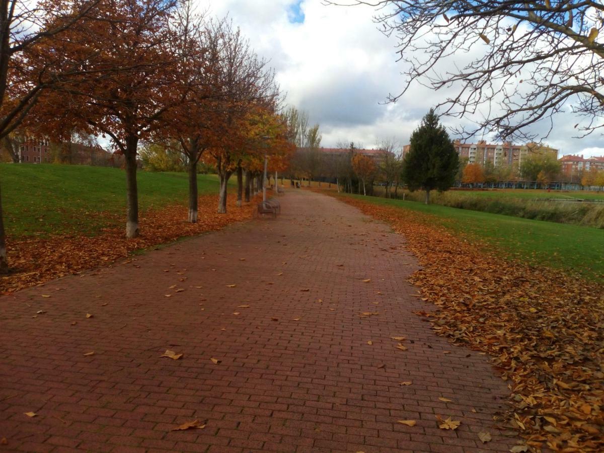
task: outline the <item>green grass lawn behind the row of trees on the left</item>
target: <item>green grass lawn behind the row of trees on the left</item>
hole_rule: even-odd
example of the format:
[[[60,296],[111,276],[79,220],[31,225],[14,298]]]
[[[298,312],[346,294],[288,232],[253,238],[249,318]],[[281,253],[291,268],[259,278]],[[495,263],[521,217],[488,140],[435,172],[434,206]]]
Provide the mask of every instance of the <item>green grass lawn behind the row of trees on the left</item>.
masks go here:
[[[234,178],[230,183],[234,184]],[[87,165],[0,164],[7,234],[95,234],[126,211],[124,170]],[[199,193],[217,193],[214,175],[198,176]],[[138,172],[141,211],[186,204],[186,173]]]

